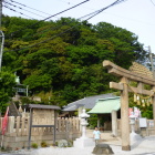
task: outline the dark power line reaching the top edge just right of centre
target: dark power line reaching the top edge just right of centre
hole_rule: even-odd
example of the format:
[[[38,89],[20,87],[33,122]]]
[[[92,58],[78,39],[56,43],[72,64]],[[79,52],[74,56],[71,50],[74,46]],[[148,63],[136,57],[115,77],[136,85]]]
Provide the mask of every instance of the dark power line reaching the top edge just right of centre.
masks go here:
[[[53,14],[53,16],[50,16],[50,17],[43,19],[43,20],[40,20],[40,21],[38,21],[38,22],[35,22],[35,23],[33,23],[33,24],[31,24],[31,25],[24,27],[24,28],[22,28],[22,29],[20,29],[20,30],[17,30],[17,31],[14,31],[14,32],[9,33],[9,34],[17,33],[17,32],[22,31],[22,30],[24,30],[24,29],[27,29],[27,28],[31,28],[31,27],[33,27],[33,25],[35,25],[35,24],[42,22],[42,21],[45,21],[45,20],[51,19],[51,18],[53,18],[53,17],[55,17],[55,16],[58,16],[58,14],[61,14],[61,13],[64,13],[64,12],[71,10],[71,9],[74,9],[74,8],[76,8],[76,7],[79,7],[79,6],[83,4],[83,3],[85,3],[85,2],[87,2],[87,1],[90,1],[90,0],[82,1],[82,2],[75,4],[75,6],[71,7],[71,8],[68,8],[68,9],[65,9],[65,10],[59,12],[59,13],[55,13],[55,14]],[[9,35],[9,34],[8,34],[8,35]]]

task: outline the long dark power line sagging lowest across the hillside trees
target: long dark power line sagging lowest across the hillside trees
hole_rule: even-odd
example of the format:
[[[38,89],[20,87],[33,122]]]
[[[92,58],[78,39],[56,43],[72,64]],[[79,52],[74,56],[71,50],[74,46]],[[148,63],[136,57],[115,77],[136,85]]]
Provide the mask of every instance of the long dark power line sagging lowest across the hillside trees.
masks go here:
[[[116,0],[115,2],[111,3],[110,6],[107,6],[107,7],[105,7],[105,8],[102,8],[102,9],[100,9],[100,10],[96,10],[95,12],[92,12],[92,13],[90,13],[90,14],[86,14],[86,16],[80,18],[80,19],[83,19],[83,18],[85,18],[85,17],[87,17],[87,16],[91,16],[90,18],[87,18],[86,20],[84,20],[84,21],[87,21],[87,20],[94,18],[95,16],[97,16],[99,13],[103,12],[104,10],[106,10],[106,9],[108,9],[108,8],[111,8],[111,7],[115,6],[115,4],[118,4],[118,3],[123,2],[123,1],[125,1],[125,0]],[[54,37],[52,37],[52,38],[49,38],[49,39],[43,40],[43,41],[41,41],[41,42],[38,42],[38,43],[35,43],[35,44],[32,44],[32,45],[29,45],[29,46],[25,46],[25,48],[21,48],[21,49],[17,49],[17,50],[9,50],[9,51],[19,51],[19,50],[25,50],[25,49],[29,49],[29,48],[33,48],[33,46],[35,46],[35,45],[39,45],[39,44],[41,44],[41,43],[44,43],[44,42],[46,42],[46,41],[49,41],[49,40],[52,40],[52,39],[54,39],[54,38],[56,38],[56,37],[60,37],[60,35],[62,35],[62,34],[69,32],[69,31],[72,30],[73,28],[78,27],[79,24],[81,24],[81,23],[78,23],[78,24],[75,24],[75,25],[73,25],[73,27],[71,27],[71,28],[69,28],[69,29],[66,29],[65,31],[63,31],[63,32],[61,32],[61,33],[58,33],[56,35],[54,35]]]

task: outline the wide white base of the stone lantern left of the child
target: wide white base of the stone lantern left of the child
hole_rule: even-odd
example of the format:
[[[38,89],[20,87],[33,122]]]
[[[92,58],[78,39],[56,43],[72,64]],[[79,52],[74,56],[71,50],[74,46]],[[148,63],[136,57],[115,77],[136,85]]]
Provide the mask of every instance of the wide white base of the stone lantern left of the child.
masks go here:
[[[82,148],[82,147],[89,147],[89,146],[95,146],[95,142],[93,138],[89,138],[89,137],[80,137],[76,138],[73,142],[73,146],[76,148]]]

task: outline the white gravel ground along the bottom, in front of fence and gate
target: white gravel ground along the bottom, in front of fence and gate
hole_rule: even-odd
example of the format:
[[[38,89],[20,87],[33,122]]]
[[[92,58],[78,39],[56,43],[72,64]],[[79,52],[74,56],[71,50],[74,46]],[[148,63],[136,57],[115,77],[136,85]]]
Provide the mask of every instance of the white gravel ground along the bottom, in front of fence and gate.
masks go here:
[[[155,136],[148,136],[134,143],[131,146],[131,151],[122,151],[120,141],[107,141],[104,143],[110,144],[115,155],[155,155]],[[14,151],[10,154],[0,153],[0,155],[93,155],[93,148],[94,147],[46,147],[30,151],[20,149]]]

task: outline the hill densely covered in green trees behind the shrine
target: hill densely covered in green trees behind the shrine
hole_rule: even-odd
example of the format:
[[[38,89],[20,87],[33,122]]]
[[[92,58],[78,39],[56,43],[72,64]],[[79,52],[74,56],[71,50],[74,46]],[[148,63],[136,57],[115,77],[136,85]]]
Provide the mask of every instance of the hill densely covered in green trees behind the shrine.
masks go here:
[[[136,34],[105,22],[3,16],[2,30],[2,71],[17,72],[32,95],[49,93],[56,105],[111,92],[108,82],[114,76],[103,68],[103,60],[128,69],[132,61],[146,56]]]

